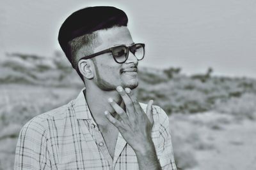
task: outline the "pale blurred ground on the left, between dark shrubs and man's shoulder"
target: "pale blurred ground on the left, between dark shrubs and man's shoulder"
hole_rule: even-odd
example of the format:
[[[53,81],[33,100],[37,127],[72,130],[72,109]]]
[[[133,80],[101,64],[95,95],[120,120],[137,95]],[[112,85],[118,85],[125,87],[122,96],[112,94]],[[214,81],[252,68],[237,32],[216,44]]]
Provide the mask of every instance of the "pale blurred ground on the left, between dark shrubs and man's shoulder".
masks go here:
[[[1,87],[0,129],[9,124],[24,125],[40,113],[66,104],[79,89],[44,88],[31,85]]]

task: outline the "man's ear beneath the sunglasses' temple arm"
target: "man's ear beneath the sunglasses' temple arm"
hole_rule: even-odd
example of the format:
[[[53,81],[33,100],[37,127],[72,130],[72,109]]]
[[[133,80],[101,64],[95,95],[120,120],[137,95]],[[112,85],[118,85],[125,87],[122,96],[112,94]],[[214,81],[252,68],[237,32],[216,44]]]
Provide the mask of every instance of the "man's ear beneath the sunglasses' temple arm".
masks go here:
[[[92,62],[90,60],[79,60],[78,68],[80,73],[87,79],[91,80],[94,76]]]

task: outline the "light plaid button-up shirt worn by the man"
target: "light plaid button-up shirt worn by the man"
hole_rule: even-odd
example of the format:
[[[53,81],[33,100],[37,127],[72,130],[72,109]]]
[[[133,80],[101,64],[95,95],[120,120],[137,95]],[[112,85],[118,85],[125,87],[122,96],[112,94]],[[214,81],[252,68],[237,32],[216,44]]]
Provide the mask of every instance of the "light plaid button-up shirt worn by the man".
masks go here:
[[[138,169],[134,150],[120,133],[115,156],[109,155],[83,90],[70,103],[38,115],[22,127],[14,169]],[[140,104],[146,111],[147,104]],[[153,119],[152,141],[161,167],[176,169],[168,116],[153,106]]]

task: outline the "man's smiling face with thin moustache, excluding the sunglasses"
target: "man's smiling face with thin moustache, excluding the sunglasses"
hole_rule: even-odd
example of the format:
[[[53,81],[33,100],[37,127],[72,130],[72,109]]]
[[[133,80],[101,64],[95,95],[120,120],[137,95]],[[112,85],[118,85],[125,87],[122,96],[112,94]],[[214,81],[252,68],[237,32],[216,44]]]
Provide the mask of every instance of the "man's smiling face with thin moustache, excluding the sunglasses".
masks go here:
[[[94,49],[94,52],[100,52],[116,45],[130,46],[134,43],[127,27],[113,27],[98,32],[102,43]],[[99,55],[94,58],[94,61],[93,81],[100,89],[115,90],[118,85],[134,89],[138,86],[138,60],[131,52],[122,64],[115,62],[112,53]]]

